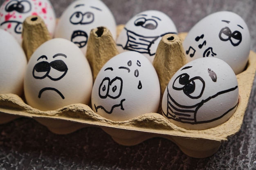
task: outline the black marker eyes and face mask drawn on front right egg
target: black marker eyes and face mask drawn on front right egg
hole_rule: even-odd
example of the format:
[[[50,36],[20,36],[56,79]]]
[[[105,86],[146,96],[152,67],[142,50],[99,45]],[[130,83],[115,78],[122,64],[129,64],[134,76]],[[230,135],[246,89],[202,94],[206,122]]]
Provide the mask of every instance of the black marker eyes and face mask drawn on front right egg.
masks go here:
[[[209,71],[209,69],[208,69]],[[211,71],[211,70],[210,70]],[[216,74],[214,75],[214,72],[211,72],[211,75],[213,75],[213,80],[215,79]],[[210,77],[211,77],[210,75]],[[198,86],[199,84],[199,86]],[[202,85],[203,84],[203,85]],[[225,116],[227,113],[229,113],[231,110],[237,107],[238,103],[235,106],[230,106],[228,110],[225,110],[222,115],[219,117],[216,117],[214,119],[205,120],[205,121],[198,121],[196,118],[197,112],[205,103],[209,102],[211,99],[218,97],[222,94],[229,93],[231,91],[234,91],[238,88],[238,86],[235,86],[233,88],[229,88],[227,90],[219,91],[218,93],[209,96],[205,99],[199,100],[200,102],[197,104],[194,104],[192,106],[185,106],[182,104],[179,104],[175,101],[175,99],[170,94],[170,90],[182,90],[185,95],[187,95],[191,99],[200,99],[202,94],[204,93],[204,87],[205,83],[202,77],[193,77],[189,79],[189,75],[186,73],[183,73],[179,75],[175,81],[173,82],[173,88],[169,89],[169,86],[167,86],[167,108],[166,113],[162,109],[163,114],[168,119],[173,119],[175,121],[180,121],[182,123],[188,123],[188,124],[202,124],[202,123],[208,123],[215,121],[217,119],[220,119],[221,117]],[[199,88],[199,89],[198,89]],[[193,94],[195,93],[195,94]]]

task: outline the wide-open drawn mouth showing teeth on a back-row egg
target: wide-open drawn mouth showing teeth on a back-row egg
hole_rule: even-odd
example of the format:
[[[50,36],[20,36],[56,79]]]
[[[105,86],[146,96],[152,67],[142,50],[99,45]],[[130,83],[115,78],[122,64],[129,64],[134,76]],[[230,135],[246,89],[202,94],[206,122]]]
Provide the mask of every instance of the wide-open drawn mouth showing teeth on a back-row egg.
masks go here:
[[[88,35],[85,31],[74,31],[71,36],[71,41],[74,42],[79,48],[84,47],[87,44]]]

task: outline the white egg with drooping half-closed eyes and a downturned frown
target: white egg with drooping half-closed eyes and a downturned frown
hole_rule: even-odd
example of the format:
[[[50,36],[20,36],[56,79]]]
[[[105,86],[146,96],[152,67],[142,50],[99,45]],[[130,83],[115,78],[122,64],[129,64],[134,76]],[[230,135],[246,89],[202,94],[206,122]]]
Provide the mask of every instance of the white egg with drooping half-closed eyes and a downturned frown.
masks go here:
[[[27,103],[40,110],[89,104],[92,91],[90,65],[74,43],[63,38],[49,40],[29,59],[24,91]]]

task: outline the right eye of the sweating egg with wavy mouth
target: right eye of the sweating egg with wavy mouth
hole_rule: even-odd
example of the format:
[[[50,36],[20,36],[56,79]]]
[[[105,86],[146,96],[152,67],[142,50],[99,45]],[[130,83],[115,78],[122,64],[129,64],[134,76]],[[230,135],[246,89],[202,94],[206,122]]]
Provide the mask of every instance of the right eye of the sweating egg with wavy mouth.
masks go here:
[[[120,77],[115,77],[115,79],[113,79],[110,82],[110,89],[109,89],[109,93],[108,96],[112,99],[117,99],[122,92],[122,87],[123,87],[123,81]]]

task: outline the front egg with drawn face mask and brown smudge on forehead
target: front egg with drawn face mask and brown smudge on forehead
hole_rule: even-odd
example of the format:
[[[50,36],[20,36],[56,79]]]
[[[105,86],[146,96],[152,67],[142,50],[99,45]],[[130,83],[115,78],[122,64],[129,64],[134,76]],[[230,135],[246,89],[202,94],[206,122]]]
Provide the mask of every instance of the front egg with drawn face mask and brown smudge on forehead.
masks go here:
[[[185,64],[171,78],[162,113],[173,124],[204,130],[227,121],[238,106],[238,82],[232,68],[215,57]]]

